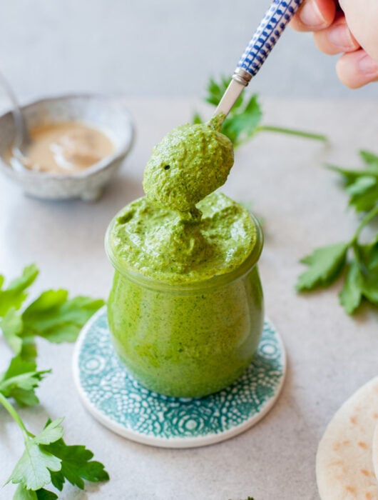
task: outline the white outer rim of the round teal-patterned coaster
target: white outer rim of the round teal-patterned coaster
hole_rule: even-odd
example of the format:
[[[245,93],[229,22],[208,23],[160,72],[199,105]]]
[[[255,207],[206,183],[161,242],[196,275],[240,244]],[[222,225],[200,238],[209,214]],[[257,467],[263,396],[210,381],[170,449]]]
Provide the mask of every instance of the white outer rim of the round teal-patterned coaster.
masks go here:
[[[78,336],[75,349],[73,351],[73,360],[72,360],[73,380],[75,382],[76,389],[78,390],[78,394],[81,397],[81,401],[83,402],[83,405],[87,409],[87,411],[91,413],[96,420],[98,420],[101,424],[103,424],[103,426],[107,427],[116,434],[119,434],[120,436],[123,436],[127,439],[131,439],[131,441],[136,441],[137,443],[148,444],[150,446],[157,446],[159,448],[197,448],[199,446],[208,446],[210,444],[220,443],[221,441],[230,439],[234,436],[237,436],[237,434],[241,434],[247,429],[250,429],[250,427],[257,424],[257,422],[260,421],[270,411],[270,409],[272,409],[278,397],[280,396],[282,387],[285,382],[285,376],[287,371],[287,356],[286,356],[285,346],[283,344],[280,334],[278,333],[277,329],[275,329],[275,326],[272,324],[272,322],[265,317],[265,321],[267,321],[270,324],[270,326],[272,326],[272,329],[274,329],[275,334],[277,336],[278,344],[280,346],[280,351],[282,355],[282,376],[280,379],[280,384],[278,384],[275,390],[275,394],[273,394],[273,396],[271,396],[270,399],[268,399],[265,402],[265,404],[262,406],[262,409],[257,414],[251,416],[247,421],[243,422],[242,424],[233,427],[233,429],[220,432],[219,434],[208,434],[208,436],[200,436],[197,438],[180,438],[180,437],[156,438],[152,436],[145,436],[145,434],[139,434],[138,432],[133,431],[131,429],[126,429],[121,424],[114,422],[111,418],[104,416],[101,413],[101,411],[99,411],[96,408],[96,406],[93,406],[91,401],[89,401],[86,392],[83,391],[80,383],[80,374],[78,370],[78,356],[81,351],[81,346],[86,337],[86,334],[88,333],[88,330],[91,329],[92,324],[97,320],[98,316],[101,316],[101,314],[103,314],[103,311],[105,309],[106,306],[103,306],[95,314],[93,314],[91,319],[89,319],[88,322],[83,326],[83,329],[81,330],[81,333]]]

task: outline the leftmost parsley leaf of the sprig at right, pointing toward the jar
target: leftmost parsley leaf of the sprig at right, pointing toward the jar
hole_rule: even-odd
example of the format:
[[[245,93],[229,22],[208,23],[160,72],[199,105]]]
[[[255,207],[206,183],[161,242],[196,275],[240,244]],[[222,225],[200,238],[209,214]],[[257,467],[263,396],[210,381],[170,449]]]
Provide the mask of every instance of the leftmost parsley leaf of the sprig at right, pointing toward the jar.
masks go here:
[[[307,264],[309,269],[299,276],[297,290],[331,284],[344,267],[348,248],[347,243],[322,246],[302,259],[301,262]]]

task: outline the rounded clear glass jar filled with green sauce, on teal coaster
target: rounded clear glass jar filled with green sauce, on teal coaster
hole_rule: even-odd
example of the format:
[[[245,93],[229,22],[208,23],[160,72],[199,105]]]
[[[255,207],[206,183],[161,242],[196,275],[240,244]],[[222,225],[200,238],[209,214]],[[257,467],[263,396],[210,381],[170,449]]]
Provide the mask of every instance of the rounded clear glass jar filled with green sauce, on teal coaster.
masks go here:
[[[129,373],[151,391],[201,397],[235,381],[250,364],[264,320],[257,261],[252,253],[228,274],[188,284],[166,284],[125,268],[110,245],[115,269],[108,324]]]

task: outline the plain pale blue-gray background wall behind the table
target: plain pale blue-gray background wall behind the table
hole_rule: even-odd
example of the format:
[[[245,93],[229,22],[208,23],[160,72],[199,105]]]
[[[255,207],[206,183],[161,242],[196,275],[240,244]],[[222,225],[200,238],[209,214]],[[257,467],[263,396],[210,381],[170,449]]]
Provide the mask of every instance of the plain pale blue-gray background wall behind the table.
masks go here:
[[[12,0],[0,17],[0,70],[21,100],[66,91],[203,96],[232,74],[268,0]],[[269,96],[367,99],[337,80],[337,56],[287,29],[252,82]]]

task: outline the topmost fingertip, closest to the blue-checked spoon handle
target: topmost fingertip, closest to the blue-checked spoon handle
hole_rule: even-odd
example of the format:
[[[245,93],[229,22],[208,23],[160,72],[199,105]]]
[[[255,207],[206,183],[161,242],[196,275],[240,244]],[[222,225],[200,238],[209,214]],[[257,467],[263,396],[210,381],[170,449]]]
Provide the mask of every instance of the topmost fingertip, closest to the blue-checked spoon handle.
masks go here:
[[[305,0],[290,26],[297,31],[317,31],[327,28],[334,20],[335,11],[334,0]]]

